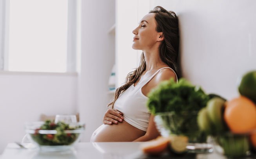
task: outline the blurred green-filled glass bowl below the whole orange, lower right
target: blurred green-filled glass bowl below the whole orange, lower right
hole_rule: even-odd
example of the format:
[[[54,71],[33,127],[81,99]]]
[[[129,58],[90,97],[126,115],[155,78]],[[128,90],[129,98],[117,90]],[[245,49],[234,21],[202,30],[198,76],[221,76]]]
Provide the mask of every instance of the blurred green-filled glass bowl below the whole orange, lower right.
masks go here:
[[[213,137],[214,151],[227,157],[245,157],[251,154],[250,133],[225,132]]]

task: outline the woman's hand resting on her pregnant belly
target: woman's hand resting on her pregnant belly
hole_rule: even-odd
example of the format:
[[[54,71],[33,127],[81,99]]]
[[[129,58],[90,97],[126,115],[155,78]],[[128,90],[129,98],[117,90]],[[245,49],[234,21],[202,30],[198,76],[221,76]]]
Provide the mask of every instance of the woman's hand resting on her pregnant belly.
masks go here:
[[[103,116],[103,123],[111,125],[112,123],[117,124],[123,121],[123,113],[117,110],[108,109]]]

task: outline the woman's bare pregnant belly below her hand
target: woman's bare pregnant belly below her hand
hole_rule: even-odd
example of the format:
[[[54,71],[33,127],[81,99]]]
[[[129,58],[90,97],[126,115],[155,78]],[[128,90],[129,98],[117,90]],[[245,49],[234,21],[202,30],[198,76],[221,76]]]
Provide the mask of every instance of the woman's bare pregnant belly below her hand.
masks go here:
[[[93,132],[91,142],[128,142],[140,138],[146,132],[126,121],[118,124],[103,124]]]

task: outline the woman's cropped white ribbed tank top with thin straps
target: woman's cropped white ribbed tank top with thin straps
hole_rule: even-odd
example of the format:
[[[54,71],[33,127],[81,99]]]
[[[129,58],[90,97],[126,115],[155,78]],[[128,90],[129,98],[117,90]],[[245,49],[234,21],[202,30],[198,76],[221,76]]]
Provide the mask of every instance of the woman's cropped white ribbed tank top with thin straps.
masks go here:
[[[123,113],[124,120],[140,130],[147,131],[147,126],[149,124],[149,118],[151,115],[146,105],[148,97],[143,95],[142,87],[145,86],[145,84],[147,84],[160,70],[164,68],[157,70],[151,77],[140,80],[136,86],[134,86],[134,84],[131,85],[117,98],[116,102],[114,103],[114,109]],[[174,70],[172,71],[175,73]],[[177,75],[176,80],[178,82]]]

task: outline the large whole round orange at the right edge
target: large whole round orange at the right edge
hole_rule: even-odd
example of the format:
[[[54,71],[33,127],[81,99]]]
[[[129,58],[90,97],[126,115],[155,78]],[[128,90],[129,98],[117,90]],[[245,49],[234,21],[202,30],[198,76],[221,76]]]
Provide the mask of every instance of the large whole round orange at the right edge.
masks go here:
[[[246,133],[256,129],[256,105],[247,97],[239,96],[228,101],[224,120],[234,133]]]

